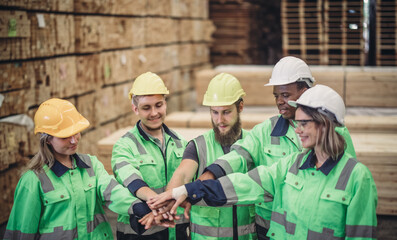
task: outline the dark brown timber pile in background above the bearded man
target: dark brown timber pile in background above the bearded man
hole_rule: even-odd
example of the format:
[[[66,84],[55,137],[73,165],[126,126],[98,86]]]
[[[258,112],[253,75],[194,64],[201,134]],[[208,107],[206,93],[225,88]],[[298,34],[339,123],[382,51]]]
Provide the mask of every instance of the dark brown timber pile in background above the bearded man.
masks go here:
[[[258,64],[265,15],[260,1],[210,0],[210,19],[216,26],[211,62]]]

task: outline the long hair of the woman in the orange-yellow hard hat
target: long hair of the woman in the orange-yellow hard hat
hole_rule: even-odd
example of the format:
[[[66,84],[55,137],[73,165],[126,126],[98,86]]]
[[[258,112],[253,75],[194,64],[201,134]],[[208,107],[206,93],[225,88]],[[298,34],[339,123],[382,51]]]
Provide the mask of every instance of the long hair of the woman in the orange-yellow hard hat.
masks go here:
[[[48,144],[48,141],[51,140],[51,138],[53,138],[53,136],[46,133],[41,134],[39,151],[30,160],[27,166],[29,170],[32,170],[34,172],[41,172],[44,165],[48,165],[48,167],[50,168],[54,165],[54,154],[52,153],[51,147]]]

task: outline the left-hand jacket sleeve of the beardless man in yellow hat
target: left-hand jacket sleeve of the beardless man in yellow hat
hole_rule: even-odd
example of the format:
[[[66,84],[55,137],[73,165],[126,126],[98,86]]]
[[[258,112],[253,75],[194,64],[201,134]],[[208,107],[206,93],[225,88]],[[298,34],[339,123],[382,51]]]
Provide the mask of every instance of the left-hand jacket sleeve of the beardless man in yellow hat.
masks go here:
[[[134,156],[135,144],[128,138],[119,139],[112,151],[112,169],[117,181],[135,196],[137,190],[148,186],[138,170],[139,164]]]

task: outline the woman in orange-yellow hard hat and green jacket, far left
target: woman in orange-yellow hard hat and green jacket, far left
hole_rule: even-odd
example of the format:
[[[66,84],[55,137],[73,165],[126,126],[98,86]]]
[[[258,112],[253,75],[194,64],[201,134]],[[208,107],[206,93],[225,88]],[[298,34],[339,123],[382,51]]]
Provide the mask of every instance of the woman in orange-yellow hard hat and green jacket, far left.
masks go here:
[[[40,149],[19,180],[4,239],[113,239],[103,205],[118,214],[150,211],[95,156],[77,153],[90,124],[72,103],[43,102],[34,123]]]

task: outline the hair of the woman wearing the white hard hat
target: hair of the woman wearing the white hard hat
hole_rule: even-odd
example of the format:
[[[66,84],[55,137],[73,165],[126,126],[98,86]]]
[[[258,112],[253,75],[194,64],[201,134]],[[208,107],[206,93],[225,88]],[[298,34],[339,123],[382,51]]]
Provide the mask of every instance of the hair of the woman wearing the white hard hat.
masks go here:
[[[338,123],[331,120],[327,115],[317,111],[317,109],[298,105],[304,113],[311,116],[318,127],[316,145],[330,156],[333,160],[338,159],[338,156],[343,153],[346,148],[345,139],[335,131]]]

